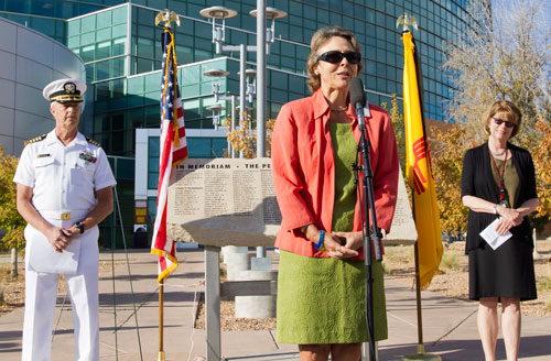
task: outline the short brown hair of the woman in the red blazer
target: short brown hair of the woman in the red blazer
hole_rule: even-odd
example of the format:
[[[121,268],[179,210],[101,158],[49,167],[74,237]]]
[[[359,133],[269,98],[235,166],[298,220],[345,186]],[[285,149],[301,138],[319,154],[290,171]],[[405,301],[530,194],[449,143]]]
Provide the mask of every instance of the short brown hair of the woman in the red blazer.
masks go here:
[[[320,75],[314,73],[314,67],[317,64],[317,57],[320,56],[320,54],[317,54],[317,51],[320,50],[320,47],[322,47],[323,44],[325,44],[329,39],[334,36],[346,39],[348,43],[350,43],[355,52],[361,53],[361,48],[359,47],[359,43],[356,36],[354,36],[354,34],[349,30],[346,30],[342,26],[325,26],[318,29],[314,33],[314,35],[312,35],[312,41],[310,42],[310,55],[306,63],[306,70],[310,76],[310,79],[306,81],[306,84],[310,88],[310,91],[312,92],[316,91],[321,86]],[[357,75],[359,75],[363,69],[364,65],[361,64],[361,62],[359,62]]]

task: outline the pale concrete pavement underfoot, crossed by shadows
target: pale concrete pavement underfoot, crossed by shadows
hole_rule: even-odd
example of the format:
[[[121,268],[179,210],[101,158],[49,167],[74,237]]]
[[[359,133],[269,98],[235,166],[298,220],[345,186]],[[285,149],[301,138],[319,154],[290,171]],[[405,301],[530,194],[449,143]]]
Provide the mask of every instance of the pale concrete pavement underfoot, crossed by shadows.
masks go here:
[[[278,254],[273,258],[274,269]],[[156,360],[159,350],[159,308],[156,258],[149,250],[131,250],[129,255],[133,296],[125,253],[115,259],[115,277],[109,272],[99,282],[100,359]],[[110,261],[102,253],[101,261]],[[194,360],[205,355],[205,331],[194,329],[195,305],[204,291],[204,254],[197,250],[179,252],[180,266],[171,275],[164,295],[164,351],[166,360]],[[112,281],[115,280],[115,282]],[[114,298],[114,291],[116,297]],[[386,280],[389,339],[379,343],[379,360],[400,360],[417,351],[415,293],[393,278]],[[133,298],[133,302],[132,302]],[[55,319],[61,314],[53,340],[52,360],[74,360],[75,342],[71,305],[58,297]],[[134,314],[136,304],[137,314]],[[484,360],[476,328],[476,303],[441,297],[422,292],[423,336],[426,352],[443,360]],[[137,315],[137,317],[136,317]],[[138,325],[137,325],[138,324]],[[139,327],[137,327],[139,326]],[[21,359],[23,309],[0,317],[0,359]],[[115,330],[117,329],[117,332]],[[139,332],[138,332],[139,330]],[[222,333],[225,358],[239,360],[298,360],[294,344],[276,342],[274,331],[230,331]],[[551,360],[551,318],[522,317],[521,360]],[[141,350],[141,351],[140,351]],[[260,357],[281,353],[280,357]],[[505,347],[498,340],[497,359],[505,360]]]

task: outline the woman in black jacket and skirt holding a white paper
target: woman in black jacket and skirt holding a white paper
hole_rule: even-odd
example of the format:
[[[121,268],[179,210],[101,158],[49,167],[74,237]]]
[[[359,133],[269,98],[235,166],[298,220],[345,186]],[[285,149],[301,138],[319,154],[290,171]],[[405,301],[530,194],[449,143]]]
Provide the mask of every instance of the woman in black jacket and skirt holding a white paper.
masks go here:
[[[496,101],[484,117],[488,141],[468,150],[463,162],[469,298],[479,300],[477,324],[486,361],[495,360],[497,304],[501,302],[501,332],[510,361],[517,360],[520,341],[520,300],[537,298],[528,220],[538,205],[534,168],[527,150],[508,143],[521,120],[512,102]],[[496,233],[512,236],[494,250],[479,233],[496,219]]]

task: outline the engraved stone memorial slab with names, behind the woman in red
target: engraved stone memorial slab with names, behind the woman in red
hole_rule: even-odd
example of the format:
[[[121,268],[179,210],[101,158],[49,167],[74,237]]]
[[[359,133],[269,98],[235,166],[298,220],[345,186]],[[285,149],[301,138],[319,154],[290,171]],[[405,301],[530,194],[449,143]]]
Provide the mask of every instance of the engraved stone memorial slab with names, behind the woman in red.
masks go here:
[[[402,193],[399,192],[389,241],[411,243],[417,232],[403,179],[400,184]],[[217,247],[273,245],[281,212],[273,188],[271,160],[185,160],[176,166],[169,187],[166,223],[169,237],[177,241]],[[395,232],[396,237],[390,239]]]

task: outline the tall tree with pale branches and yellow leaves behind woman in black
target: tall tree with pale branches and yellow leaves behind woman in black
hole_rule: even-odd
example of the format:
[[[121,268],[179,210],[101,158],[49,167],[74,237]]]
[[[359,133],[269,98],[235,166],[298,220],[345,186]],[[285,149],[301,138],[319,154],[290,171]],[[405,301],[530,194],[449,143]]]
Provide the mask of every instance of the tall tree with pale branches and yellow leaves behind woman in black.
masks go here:
[[[445,172],[455,172],[457,166],[446,156],[457,153],[462,160],[467,147],[487,140],[482,124],[486,109],[497,99],[512,101],[522,112],[522,125],[511,142],[527,149],[536,166],[540,203],[533,215],[534,225],[548,221],[551,215],[549,7],[542,0],[497,0],[491,7],[486,1],[469,2],[468,12],[476,21],[446,45],[444,64],[453,85],[447,116],[461,124],[461,132],[442,134],[441,147],[445,152],[434,156],[435,173],[441,172],[439,176],[444,182],[451,177]],[[445,189],[445,184],[439,186],[439,197],[453,194],[453,189]],[[457,197],[453,199],[444,201],[442,214],[449,212],[445,205],[461,201]]]

